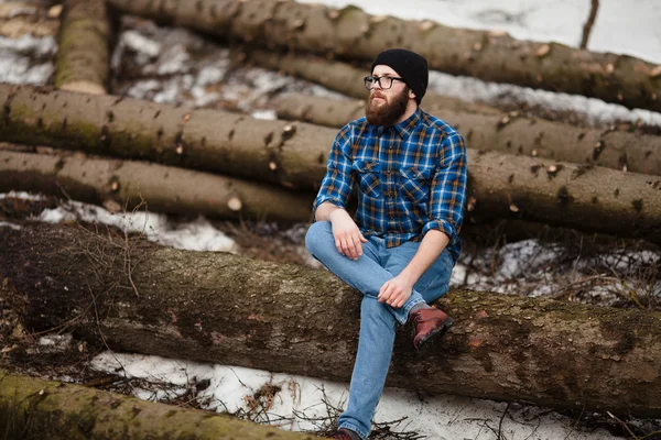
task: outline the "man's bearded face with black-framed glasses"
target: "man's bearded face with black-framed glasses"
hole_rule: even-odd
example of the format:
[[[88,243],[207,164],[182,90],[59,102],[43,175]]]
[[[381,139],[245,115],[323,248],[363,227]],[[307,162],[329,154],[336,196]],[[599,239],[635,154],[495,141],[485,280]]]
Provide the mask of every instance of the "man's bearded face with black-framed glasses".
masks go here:
[[[381,64],[375,66],[372,76],[401,78],[392,67]],[[403,81],[392,81],[392,87],[387,90],[375,84],[365,107],[367,122],[383,127],[395,124],[407,111],[409,99],[409,87]]]

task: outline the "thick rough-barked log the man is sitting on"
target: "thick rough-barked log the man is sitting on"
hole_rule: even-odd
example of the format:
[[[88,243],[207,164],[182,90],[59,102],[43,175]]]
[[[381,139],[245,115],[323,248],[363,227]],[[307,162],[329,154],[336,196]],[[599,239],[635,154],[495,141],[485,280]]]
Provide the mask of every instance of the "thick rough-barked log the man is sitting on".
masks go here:
[[[76,227],[0,228],[0,299],[30,330],[66,323],[118,351],[350,377],[360,294],[324,270]],[[468,290],[441,307],[456,323],[424,353],[399,329],[389,385],[661,417],[661,314]]]

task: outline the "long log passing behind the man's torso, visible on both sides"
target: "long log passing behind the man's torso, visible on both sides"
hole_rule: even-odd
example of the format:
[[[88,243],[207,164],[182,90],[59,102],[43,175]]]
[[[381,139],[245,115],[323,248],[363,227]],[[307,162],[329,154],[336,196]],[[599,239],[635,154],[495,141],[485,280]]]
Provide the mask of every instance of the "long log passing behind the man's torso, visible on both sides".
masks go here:
[[[305,123],[187,112],[28,86],[0,86],[0,141],[149,160],[300,189],[318,186],[336,134]],[[659,177],[498,152],[467,153],[469,216],[513,216],[661,242]]]

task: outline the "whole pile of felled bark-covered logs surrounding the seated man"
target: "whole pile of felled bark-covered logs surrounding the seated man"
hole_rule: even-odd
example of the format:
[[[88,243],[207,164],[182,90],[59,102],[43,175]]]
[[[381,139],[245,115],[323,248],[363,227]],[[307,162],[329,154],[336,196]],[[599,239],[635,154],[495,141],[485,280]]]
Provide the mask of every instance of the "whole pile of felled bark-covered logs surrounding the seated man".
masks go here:
[[[628,56],[370,16],[355,7],[279,0],[107,3],[115,12],[248,43],[243,62],[314,79],[353,98],[366,97],[362,67],[397,45],[449,74],[661,111],[661,68]],[[64,193],[111,211],[147,201],[163,212],[310,221],[337,127],[361,117],[365,102],[282,97],[281,120],[258,121],[113,96],[109,16],[104,1],[66,1],[56,89],[0,85],[0,142],[54,148],[0,147],[0,191]],[[423,109],[467,140],[472,223],[520,219],[661,243],[658,136],[574,127],[433,94]],[[339,381],[350,376],[359,297],[324,271],[140,241],[130,250],[140,266],[128,274],[126,241],[69,227],[0,228],[0,304],[21,310],[31,331],[68,322],[78,338],[94,344],[102,339],[121,351]],[[95,249],[106,260],[101,266],[80,252]],[[424,359],[408,337],[398,336],[390,385],[661,417],[659,312],[467,290],[452,292],[442,302],[457,324]],[[0,381],[2,391],[10,389],[8,383],[13,387],[0,394],[3,408],[8,396],[22,393],[18,389],[48,389],[42,399],[47,405],[28,403],[39,409],[33,417],[40,422],[52,419],[48,411],[69,393],[2,373]],[[86,399],[119,398],[74,388]],[[78,417],[73,410],[66,417]],[[140,407],[152,410],[160,409]],[[225,420],[208,424],[243,430]],[[136,436],[156,436],[147,432]],[[270,431],[241,438],[271,436],[300,438]]]

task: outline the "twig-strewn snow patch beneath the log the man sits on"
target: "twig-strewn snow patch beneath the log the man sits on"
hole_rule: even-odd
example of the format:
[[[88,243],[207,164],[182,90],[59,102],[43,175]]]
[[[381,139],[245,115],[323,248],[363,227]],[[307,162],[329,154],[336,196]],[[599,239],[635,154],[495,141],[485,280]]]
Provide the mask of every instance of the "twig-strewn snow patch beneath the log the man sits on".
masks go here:
[[[119,374],[128,380],[149,383],[138,387],[136,395],[150,400],[174,398],[191,389],[206,409],[240,414],[253,421],[269,422],[283,429],[316,430],[328,408],[344,407],[348,397],[345,384],[261,370],[199,364],[159,356],[105,352],[96,356],[93,367]],[[174,385],[174,386],[171,386]],[[254,396],[262,396],[256,400]],[[507,404],[460,396],[429,395],[400,388],[387,388],[375,422],[403,419],[397,431],[419,432],[434,440],[498,439],[496,432],[502,419],[501,439],[615,439],[598,429],[584,432],[575,420],[540,408],[507,408]]]

